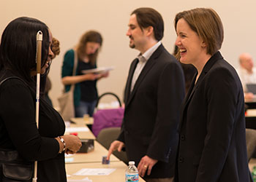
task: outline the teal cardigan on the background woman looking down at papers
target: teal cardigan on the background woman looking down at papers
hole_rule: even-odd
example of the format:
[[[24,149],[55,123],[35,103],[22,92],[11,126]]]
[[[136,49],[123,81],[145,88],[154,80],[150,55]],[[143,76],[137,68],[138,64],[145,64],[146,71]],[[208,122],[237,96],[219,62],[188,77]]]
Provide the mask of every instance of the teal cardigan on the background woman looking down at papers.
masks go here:
[[[62,65],[61,70],[61,78],[64,76],[72,76],[73,67],[74,67],[74,58],[75,58],[75,52],[74,50],[68,50],[64,55],[64,61]],[[75,75],[78,75],[78,68],[76,70]],[[70,84],[65,85],[65,92],[68,92],[70,90]],[[75,84],[75,90],[74,90],[74,105],[78,106],[80,102],[80,83]]]

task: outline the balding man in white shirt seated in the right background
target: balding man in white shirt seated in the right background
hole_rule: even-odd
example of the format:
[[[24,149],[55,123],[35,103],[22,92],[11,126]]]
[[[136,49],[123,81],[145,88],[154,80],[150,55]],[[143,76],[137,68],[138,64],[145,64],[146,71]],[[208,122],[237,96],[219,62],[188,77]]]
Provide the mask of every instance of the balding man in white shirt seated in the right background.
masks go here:
[[[238,75],[244,89],[244,98],[252,99],[254,94],[249,92],[246,84],[256,84],[256,68],[253,67],[252,56],[249,53],[242,53],[239,56],[240,68],[238,68]]]

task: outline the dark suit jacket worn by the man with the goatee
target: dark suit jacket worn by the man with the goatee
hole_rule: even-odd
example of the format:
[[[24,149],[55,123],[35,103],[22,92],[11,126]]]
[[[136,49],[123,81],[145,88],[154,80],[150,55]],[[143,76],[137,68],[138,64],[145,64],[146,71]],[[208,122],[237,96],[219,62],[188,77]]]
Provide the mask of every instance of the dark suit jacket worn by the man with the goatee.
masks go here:
[[[167,178],[174,174],[184,75],[178,61],[161,44],[130,92],[137,63],[135,59],[129,69],[124,121],[118,140],[125,143],[127,157],[136,165],[145,155],[159,160],[146,178]]]

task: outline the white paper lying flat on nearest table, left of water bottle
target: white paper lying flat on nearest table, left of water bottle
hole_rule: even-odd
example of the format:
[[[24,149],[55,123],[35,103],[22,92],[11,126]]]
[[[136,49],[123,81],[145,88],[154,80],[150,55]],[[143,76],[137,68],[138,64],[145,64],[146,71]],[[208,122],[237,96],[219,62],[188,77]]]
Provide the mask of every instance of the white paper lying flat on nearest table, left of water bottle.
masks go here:
[[[73,175],[109,175],[115,170],[111,168],[83,168]]]

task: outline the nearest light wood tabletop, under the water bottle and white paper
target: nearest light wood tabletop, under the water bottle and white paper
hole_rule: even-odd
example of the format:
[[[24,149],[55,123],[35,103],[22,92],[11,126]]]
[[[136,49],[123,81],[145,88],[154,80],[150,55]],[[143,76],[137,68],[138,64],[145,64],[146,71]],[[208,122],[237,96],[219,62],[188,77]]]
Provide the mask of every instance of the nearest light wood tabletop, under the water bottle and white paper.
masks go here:
[[[110,175],[73,175],[78,172],[78,170],[83,168],[115,168],[116,170]],[[67,175],[71,175],[67,178],[67,180],[81,180],[83,178],[88,177],[93,182],[121,182],[125,181],[125,170],[127,169],[127,165],[124,162],[110,162],[109,165],[102,165],[101,162],[94,163],[83,163],[83,164],[67,164],[66,170]],[[139,177],[139,181],[143,182],[143,178]]]

